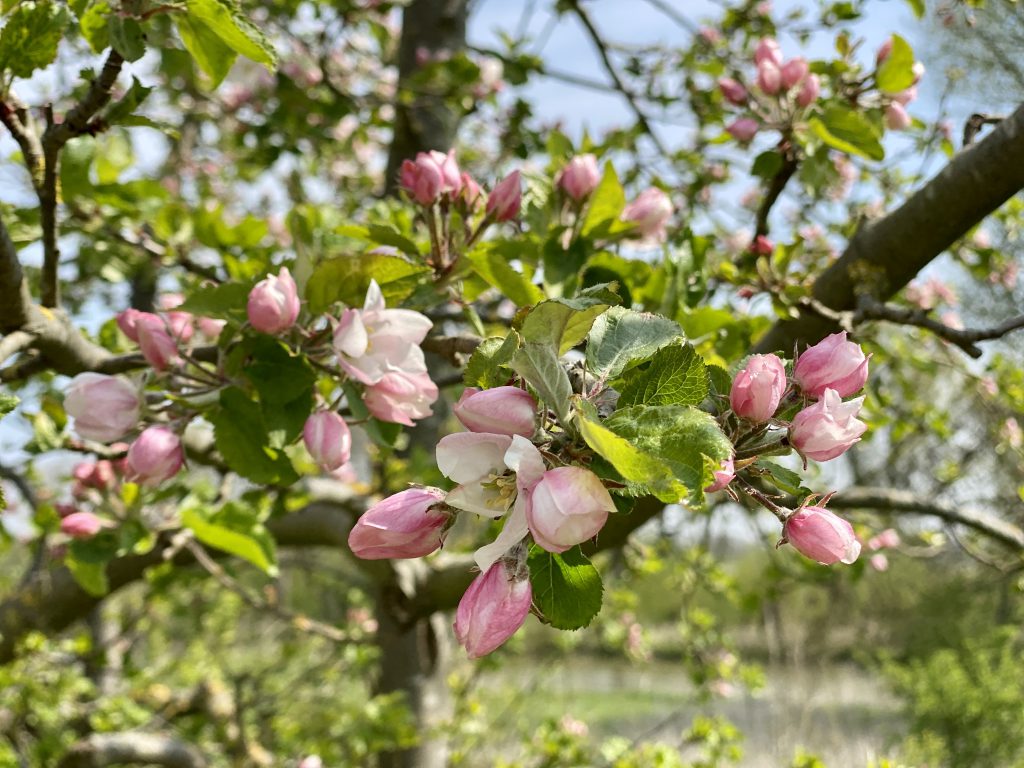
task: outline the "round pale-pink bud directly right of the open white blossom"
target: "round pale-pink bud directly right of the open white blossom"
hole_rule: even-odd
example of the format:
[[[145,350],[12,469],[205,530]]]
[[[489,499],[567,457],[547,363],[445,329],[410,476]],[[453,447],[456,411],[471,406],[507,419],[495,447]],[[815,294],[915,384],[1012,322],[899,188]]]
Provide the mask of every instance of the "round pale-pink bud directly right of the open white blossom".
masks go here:
[[[581,467],[557,467],[534,486],[526,520],[539,546],[564,552],[597,536],[614,511],[600,477]]]

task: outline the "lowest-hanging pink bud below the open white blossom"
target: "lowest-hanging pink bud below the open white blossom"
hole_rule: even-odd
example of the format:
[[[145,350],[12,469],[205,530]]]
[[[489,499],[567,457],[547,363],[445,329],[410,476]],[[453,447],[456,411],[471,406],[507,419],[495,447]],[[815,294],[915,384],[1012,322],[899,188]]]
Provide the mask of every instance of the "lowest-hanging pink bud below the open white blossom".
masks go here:
[[[470,658],[485,656],[522,627],[532,601],[528,575],[499,560],[473,580],[459,601],[455,636]]]

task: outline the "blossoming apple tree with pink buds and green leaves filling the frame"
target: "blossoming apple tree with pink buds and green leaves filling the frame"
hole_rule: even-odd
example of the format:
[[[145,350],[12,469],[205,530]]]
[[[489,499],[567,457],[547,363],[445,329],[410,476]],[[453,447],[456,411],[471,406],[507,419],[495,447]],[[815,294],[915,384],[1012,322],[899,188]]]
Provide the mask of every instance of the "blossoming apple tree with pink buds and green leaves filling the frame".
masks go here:
[[[2,522],[32,554],[0,660],[31,665],[40,633],[82,620],[113,654],[111,595],[201,573],[335,653],[376,646],[358,668],[373,706],[409,719],[326,764],[432,768],[459,655],[501,653],[526,622],[587,632],[604,553],[671,505],[742,505],[815,568],[894,547],[876,513],[1019,558],[1024,378],[984,345],[1024,328],[1024,108],[956,145],[914,115],[930,75],[908,42],[846,29],[861,3],[740,2],[697,27],[651,2],[680,42],[624,48],[560,0],[595,79],[515,36],[469,46],[469,6],[3,3],[0,404],[20,421]],[[777,42],[808,28],[828,57]],[[617,94],[633,124],[573,142],[521,95],[542,78]],[[975,281],[963,314],[983,325],[913,282],[940,256]],[[954,423],[970,452],[946,444]],[[41,471],[54,452],[79,455],[70,476]],[[961,488],[973,462],[1005,481]],[[283,553],[325,547],[372,605],[361,630],[282,593]],[[216,757],[144,717],[11,749],[298,764],[203,690],[187,711],[226,723]]]

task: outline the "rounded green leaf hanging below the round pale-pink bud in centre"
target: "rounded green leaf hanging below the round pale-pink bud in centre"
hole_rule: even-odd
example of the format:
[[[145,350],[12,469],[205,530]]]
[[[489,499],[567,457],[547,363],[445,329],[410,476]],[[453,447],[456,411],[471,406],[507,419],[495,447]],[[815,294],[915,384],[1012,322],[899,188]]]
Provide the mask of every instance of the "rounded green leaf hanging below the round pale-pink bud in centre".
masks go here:
[[[555,629],[583,629],[601,611],[601,574],[580,547],[559,555],[535,546],[527,565],[534,603]]]

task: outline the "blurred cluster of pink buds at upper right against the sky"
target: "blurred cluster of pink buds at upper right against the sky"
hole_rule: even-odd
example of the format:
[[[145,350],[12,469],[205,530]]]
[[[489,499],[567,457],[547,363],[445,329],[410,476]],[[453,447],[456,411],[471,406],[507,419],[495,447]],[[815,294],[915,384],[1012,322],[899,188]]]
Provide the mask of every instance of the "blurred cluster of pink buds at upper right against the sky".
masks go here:
[[[778,43],[763,38],[754,51],[757,74],[749,88],[732,78],[721,78],[719,90],[734,106],[745,106],[750,115],[735,119],[726,131],[741,143],[751,141],[762,126],[793,122],[798,112],[813,104],[821,94],[821,81],[803,57],[783,59]]]

